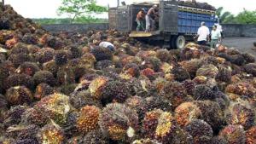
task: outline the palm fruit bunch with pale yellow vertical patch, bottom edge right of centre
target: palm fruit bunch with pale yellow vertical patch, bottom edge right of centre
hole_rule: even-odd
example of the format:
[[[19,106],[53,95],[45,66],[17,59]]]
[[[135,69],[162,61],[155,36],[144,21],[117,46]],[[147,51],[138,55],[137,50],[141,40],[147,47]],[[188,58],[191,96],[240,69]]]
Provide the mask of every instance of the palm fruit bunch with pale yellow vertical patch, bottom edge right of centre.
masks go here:
[[[143,119],[143,136],[161,143],[187,143],[191,136],[175,122],[171,112],[154,109]]]

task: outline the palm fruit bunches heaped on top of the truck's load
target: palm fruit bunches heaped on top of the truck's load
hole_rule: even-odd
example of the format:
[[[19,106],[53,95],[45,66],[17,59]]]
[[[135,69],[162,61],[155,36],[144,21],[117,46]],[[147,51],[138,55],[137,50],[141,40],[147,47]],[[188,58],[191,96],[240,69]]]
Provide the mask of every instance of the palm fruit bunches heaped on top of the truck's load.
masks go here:
[[[178,1],[178,5],[197,8],[197,9],[216,10],[216,8],[210,5],[209,3],[200,3],[200,2],[196,2],[195,0],[185,0],[185,1],[181,0],[181,1]]]

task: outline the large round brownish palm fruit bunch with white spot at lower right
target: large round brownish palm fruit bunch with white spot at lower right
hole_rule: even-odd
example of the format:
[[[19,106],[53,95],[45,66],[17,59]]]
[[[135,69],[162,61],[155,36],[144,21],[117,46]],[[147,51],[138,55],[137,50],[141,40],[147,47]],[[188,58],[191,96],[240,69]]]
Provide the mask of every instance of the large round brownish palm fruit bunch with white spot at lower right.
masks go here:
[[[103,108],[99,124],[113,141],[129,141],[137,135],[137,112],[123,104],[108,104]]]

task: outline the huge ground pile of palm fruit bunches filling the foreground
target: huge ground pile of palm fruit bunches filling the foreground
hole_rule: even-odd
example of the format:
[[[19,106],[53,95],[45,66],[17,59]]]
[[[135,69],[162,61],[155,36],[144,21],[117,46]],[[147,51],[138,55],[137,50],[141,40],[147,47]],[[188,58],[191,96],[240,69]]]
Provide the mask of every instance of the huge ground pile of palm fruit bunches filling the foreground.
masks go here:
[[[11,7],[2,13],[16,24]],[[253,55],[20,24],[0,31],[0,143],[256,143]],[[115,52],[94,47],[102,36]]]

